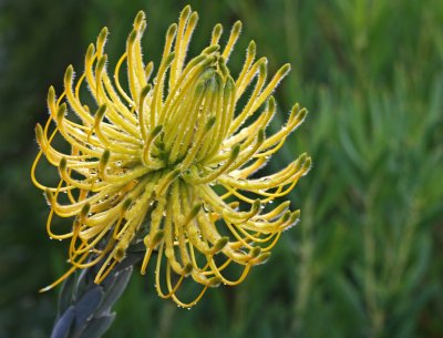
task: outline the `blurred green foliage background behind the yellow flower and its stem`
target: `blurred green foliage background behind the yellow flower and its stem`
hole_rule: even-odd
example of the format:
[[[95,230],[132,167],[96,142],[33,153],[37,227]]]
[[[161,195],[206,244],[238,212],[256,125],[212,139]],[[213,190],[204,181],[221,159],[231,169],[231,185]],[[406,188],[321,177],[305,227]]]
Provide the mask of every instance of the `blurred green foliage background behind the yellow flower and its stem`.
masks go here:
[[[29,177],[48,88],[62,91],[68,64],[83,69],[103,25],[115,64],[141,9],[157,62],[186,3],[200,17],[192,55],[215,23],[240,19],[234,73],[251,39],[271,71],[292,64],[274,127],[296,101],[310,114],[272,166],[312,156],[290,195],[301,223],[245,283],[190,310],[135,273],[105,337],[443,337],[443,2],[432,0],[1,0],[0,337],[50,336],[58,290],[38,289],[65,269],[68,243],[49,240]]]

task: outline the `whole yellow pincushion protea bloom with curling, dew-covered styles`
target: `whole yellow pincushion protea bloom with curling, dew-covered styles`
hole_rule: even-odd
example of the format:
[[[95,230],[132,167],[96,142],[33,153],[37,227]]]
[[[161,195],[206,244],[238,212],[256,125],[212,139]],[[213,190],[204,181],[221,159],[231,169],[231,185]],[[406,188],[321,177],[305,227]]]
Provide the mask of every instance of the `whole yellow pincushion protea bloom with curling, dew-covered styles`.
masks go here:
[[[130,244],[143,240],[142,274],[156,252],[158,294],[192,306],[207,287],[241,283],[251,266],[269,257],[281,232],[298,221],[299,211],[291,212],[289,202],[265,206],[288,194],[308,172],[306,154],[278,173],[253,176],[307,113],[296,104],[286,125],[266,136],[276,114],[271,93],[289,72],[289,64],[267,81],[267,60],[255,61],[251,41],[234,79],[227,61],[240,22],[234,24],[224,48],[218,44],[222,25],[215,25],[209,47],[186,62],[197,19],[186,7],[178,24],[169,27],[155,78],[153,63],[142,60],[146,23],[140,12],[113,78],[104,53],[105,28],[95,45],[89,47],[85,70],[78,80],[70,65],[62,94],[56,98],[50,88],[50,117],[44,127],[35,127],[41,151],[32,181],[45,192],[51,206],[49,235],[71,240],[72,267],[45,289],[75,269],[99,263],[95,283],[101,283],[125,257]],[[124,63],[127,89],[121,84]],[[87,100],[81,98],[87,94],[84,86],[92,96]],[[250,96],[240,104],[247,90]],[[58,135],[68,142],[69,152],[55,148]],[[42,155],[58,167],[56,186],[35,178]],[[53,214],[74,217],[72,228],[54,233]],[[243,268],[235,279],[226,274],[231,264]],[[186,277],[203,286],[190,303],[177,296]]]

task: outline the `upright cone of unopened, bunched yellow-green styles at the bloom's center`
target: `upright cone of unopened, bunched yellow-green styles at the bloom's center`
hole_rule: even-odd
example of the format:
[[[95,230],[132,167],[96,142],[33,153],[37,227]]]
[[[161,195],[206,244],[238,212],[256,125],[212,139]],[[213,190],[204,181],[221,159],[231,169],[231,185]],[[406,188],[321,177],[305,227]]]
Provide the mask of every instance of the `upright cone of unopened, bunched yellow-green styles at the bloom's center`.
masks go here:
[[[228,131],[234,80],[224,73],[223,58],[213,54],[193,61],[156,114],[157,124],[145,142],[145,166],[183,172],[207,164]],[[156,85],[163,86],[164,81]]]

